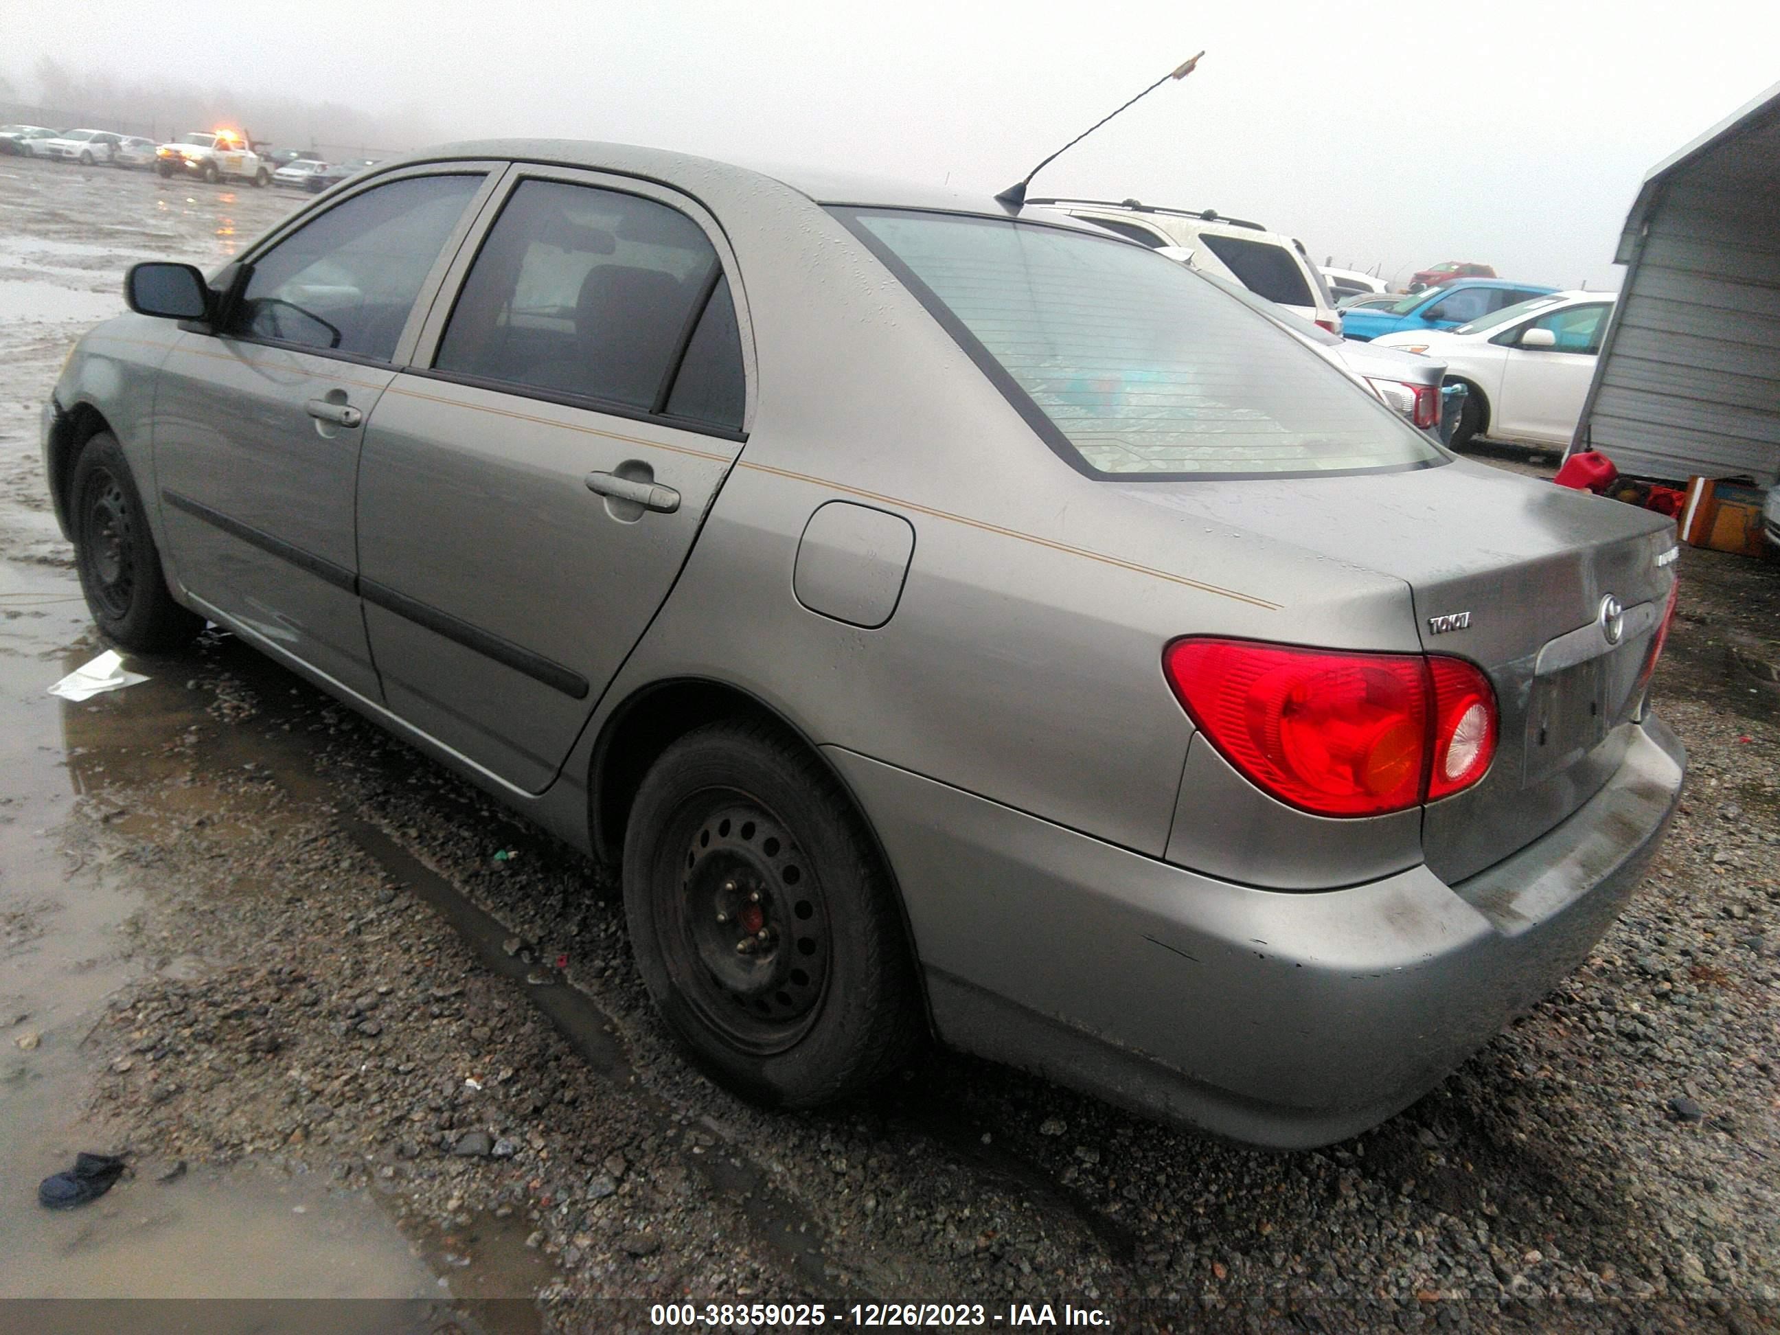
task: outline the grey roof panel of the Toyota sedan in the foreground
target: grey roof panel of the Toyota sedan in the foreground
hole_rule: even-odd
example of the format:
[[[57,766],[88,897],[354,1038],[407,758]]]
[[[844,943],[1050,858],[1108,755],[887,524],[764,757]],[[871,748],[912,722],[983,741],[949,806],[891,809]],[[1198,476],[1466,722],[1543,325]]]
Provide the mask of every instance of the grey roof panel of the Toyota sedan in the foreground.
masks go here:
[[[473,139],[384,158],[377,166],[399,167],[452,158],[518,158],[582,167],[586,171],[621,171],[639,176],[659,174],[664,180],[682,185],[708,180],[714,185],[746,187],[749,182],[767,178],[821,205],[926,208],[951,214],[1009,217],[1009,210],[997,203],[995,196],[977,190],[838,173],[822,167],[783,164],[749,167],[735,162],[719,162],[717,158],[694,157],[691,153],[675,153],[664,148],[607,144],[584,139]]]

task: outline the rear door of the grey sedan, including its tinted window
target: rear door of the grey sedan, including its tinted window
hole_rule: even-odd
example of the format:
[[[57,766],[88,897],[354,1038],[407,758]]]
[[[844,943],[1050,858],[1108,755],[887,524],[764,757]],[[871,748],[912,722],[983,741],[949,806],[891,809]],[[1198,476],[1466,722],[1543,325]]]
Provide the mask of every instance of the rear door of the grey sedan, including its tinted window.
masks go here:
[[[539,792],[740,454],[746,317],[644,182],[518,169],[468,251],[370,418],[365,621],[390,708]]]

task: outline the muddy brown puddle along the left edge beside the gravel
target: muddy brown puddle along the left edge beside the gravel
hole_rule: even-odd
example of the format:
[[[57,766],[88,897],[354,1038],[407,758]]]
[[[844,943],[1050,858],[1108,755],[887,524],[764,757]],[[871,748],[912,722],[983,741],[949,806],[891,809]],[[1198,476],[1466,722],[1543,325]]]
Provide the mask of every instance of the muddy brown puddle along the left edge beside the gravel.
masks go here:
[[[0,1298],[301,1296],[436,1305],[438,1280],[376,1202],[329,1193],[320,1182],[237,1168],[199,1169],[162,1185],[150,1161],[144,1177],[126,1178],[93,1205],[50,1212],[36,1203],[36,1184],[68,1168],[75,1152],[117,1148],[82,1114],[91,1084],[82,1040],[105,999],[157,963],[132,933],[142,899],[128,867],[103,863],[71,835],[94,815],[125,833],[182,819],[178,796],[171,806],[125,812],[107,792],[123,780],[151,781],[189,767],[190,756],[169,742],[203,723],[208,703],[185,689],[190,664],[171,660],[132,660],[151,673],[150,682],[78,705],[44,694],[96,650],[75,589],[66,575],[0,564],[0,612],[7,614],[0,621],[0,771],[7,774],[0,792]],[[80,803],[105,810],[82,815]],[[171,956],[164,972],[203,967],[189,954]],[[21,1038],[28,1047],[20,1047]],[[16,1315],[7,1308],[7,1319]],[[392,1315],[399,1314],[383,1312],[363,1330],[395,1328]],[[139,1317],[116,1328],[141,1330]]]

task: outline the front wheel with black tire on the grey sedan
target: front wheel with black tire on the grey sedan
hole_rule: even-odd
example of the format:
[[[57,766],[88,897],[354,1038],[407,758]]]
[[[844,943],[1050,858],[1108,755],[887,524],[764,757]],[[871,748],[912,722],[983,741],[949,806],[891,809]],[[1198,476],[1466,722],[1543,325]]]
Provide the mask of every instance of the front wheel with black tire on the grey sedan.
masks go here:
[[[137,653],[167,653],[192,641],[205,619],[173,602],[160,552],[123,447],[93,436],[68,484],[80,591],[100,634]]]

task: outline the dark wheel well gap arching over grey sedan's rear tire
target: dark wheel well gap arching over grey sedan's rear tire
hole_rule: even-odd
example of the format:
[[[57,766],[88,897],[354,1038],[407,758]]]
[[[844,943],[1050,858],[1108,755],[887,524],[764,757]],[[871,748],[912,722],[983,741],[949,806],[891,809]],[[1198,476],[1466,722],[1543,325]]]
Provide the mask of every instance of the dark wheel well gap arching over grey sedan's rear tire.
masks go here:
[[[883,869],[892,894],[895,895],[895,908],[897,917],[902,922],[902,940],[908,945],[908,958],[915,961],[918,974],[920,954],[915,951],[915,931],[908,920],[908,906],[902,902],[902,890],[897,885],[895,870],[890,867],[890,858],[885,854],[883,844],[878,840],[878,831],[872,829],[870,819],[853,797],[853,790],[847,787],[846,780],[842,780],[840,773],[828,762],[828,756],[822,755],[821,748],[805,737],[794,724],[783,719],[776,710],[746,691],[724,685],[723,682],[712,682],[707,678],[659,682],[655,685],[643,687],[612,712],[612,717],[600,732],[598,742],[595,742],[593,764],[589,765],[591,773],[587,776],[593,856],[611,867],[618,865],[625,849],[625,824],[630,819],[630,806],[635,801],[637,787],[643,783],[643,776],[650,771],[650,765],[653,765],[655,758],[675,740],[685,737],[694,728],[703,728],[707,723],[717,723],[719,719],[762,721],[783,733],[794,746],[808,751],[819,765],[833,774],[835,783],[846,794],[854,815],[860,817],[860,824],[870,837],[872,851],[878,854],[878,865]],[[926,984],[922,984],[920,991],[922,1009],[926,1011]],[[927,1020],[927,1027],[931,1032],[931,1018]]]

